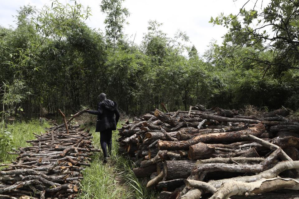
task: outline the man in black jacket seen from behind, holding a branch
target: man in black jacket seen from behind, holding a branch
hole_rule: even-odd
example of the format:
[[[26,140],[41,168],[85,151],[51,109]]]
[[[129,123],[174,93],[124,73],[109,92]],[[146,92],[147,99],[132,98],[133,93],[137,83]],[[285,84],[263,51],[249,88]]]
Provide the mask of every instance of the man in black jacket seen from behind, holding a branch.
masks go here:
[[[99,95],[99,100],[97,110],[87,110],[87,112],[97,115],[96,132],[100,132],[100,143],[104,154],[103,162],[107,163],[107,157],[110,155],[112,148],[112,131],[116,130],[120,113],[117,109],[117,103],[107,99],[105,93]],[[114,114],[116,117],[114,117]]]

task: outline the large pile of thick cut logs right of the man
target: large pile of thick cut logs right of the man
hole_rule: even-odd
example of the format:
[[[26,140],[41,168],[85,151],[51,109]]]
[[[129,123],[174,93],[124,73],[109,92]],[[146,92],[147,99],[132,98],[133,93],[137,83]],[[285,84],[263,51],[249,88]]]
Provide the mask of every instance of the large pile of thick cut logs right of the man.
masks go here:
[[[165,112],[127,120],[118,139],[120,152],[135,162],[135,176],[148,179],[160,199],[250,198],[299,189],[299,123],[285,118],[287,110],[244,116],[196,105]]]

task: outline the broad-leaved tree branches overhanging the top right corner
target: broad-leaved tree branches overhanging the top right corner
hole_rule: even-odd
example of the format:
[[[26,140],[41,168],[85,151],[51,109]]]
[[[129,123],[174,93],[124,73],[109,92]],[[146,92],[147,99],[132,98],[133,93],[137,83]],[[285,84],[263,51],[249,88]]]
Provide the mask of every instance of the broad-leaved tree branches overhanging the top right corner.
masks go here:
[[[224,46],[229,46],[230,51],[248,46],[254,49],[251,53],[240,57],[236,65],[253,60],[263,66],[264,75],[270,70],[276,75],[281,75],[288,69],[299,69],[297,59],[299,17],[296,14],[299,2],[271,1],[261,12],[257,9],[262,1],[257,1],[250,10],[245,9],[247,3],[237,15],[225,16],[221,13],[215,19],[211,17],[209,21],[229,29],[224,36]],[[264,52],[271,54],[270,59],[260,56]]]

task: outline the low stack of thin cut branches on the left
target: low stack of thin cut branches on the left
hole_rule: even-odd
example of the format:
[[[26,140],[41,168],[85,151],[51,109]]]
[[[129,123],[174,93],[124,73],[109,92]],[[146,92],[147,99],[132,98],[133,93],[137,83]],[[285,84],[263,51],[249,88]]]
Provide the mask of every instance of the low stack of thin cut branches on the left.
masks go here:
[[[64,119],[65,121],[65,119]],[[65,124],[69,123],[65,122]],[[94,149],[91,133],[79,125],[59,125],[35,134],[31,146],[15,150],[17,160],[0,171],[0,198],[74,198],[81,171]]]

